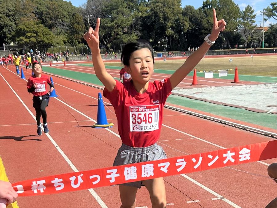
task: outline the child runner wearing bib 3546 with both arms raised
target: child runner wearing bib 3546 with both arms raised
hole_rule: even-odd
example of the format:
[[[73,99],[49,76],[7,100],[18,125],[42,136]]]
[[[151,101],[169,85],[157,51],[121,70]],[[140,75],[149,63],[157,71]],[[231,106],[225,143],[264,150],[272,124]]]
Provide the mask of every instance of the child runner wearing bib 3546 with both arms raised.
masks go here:
[[[153,161],[166,158],[163,148],[157,145],[163,120],[163,106],[171,90],[175,88],[187,74],[194,69],[210,46],[225,29],[226,22],[217,20],[213,9],[214,21],[211,35],[207,35],[204,43],[186,62],[162,81],[149,82],[154,69],[154,54],[149,43],[128,43],[124,46],[121,61],[130,82],[118,82],[106,71],[99,49],[100,18],[96,28],[89,29],[84,39],[92,51],[93,66],[98,79],[104,84],[103,95],[114,106],[118,119],[118,132],[122,146],[114,160],[114,166],[137,162]],[[139,111],[146,109],[145,111]],[[121,207],[135,207],[136,193],[142,185],[149,191],[152,207],[166,207],[166,191],[163,178],[137,181],[119,185]]]

